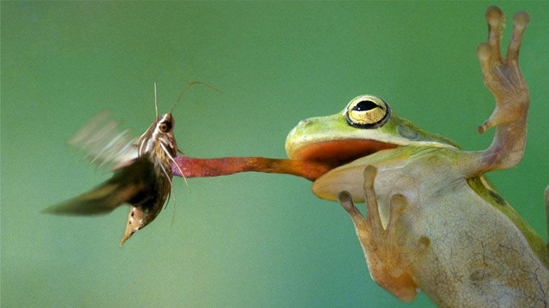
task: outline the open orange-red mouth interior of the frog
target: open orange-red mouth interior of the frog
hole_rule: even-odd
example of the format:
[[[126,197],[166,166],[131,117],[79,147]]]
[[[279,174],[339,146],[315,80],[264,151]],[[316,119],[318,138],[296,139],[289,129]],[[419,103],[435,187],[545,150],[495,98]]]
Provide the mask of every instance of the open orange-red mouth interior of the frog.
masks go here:
[[[290,159],[319,163],[332,170],[361,157],[369,156],[383,149],[394,149],[395,147],[398,147],[398,145],[377,140],[329,140],[297,149],[297,151],[290,154]]]

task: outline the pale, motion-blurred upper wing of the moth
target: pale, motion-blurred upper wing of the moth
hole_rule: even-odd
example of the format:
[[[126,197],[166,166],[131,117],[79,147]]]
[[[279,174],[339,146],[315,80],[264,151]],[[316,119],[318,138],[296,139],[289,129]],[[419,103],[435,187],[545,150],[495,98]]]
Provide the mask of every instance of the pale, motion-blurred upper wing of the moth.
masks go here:
[[[109,111],[103,111],[82,127],[68,141],[70,145],[86,152],[84,159],[98,168],[120,168],[137,158],[137,138],[130,129],[121,130],[120,122],[111,119]]]

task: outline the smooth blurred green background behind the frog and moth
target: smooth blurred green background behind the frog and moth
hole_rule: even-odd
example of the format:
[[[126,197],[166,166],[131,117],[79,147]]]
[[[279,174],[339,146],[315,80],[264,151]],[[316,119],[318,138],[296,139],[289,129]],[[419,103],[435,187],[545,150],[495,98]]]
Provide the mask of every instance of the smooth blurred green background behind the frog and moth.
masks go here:
[[[66,143],[104,109],[134,133],[176,108],[176,139],[198,157],[284,158],[299,120],[383,97],[419,127],[484,149],[493,111],[475,53],[493,3],[1,3],[1,305],[394,307],[372,282],[353,225],[309,181],[243,173],[176,179],[178,200],[118,248],[127,207],[39,213],[109,177]],[[546,2],[526,10],[527,150],[495,172],[502,195],[546,238],[549,70]],[[412,303],[433,305],[421,294]]]

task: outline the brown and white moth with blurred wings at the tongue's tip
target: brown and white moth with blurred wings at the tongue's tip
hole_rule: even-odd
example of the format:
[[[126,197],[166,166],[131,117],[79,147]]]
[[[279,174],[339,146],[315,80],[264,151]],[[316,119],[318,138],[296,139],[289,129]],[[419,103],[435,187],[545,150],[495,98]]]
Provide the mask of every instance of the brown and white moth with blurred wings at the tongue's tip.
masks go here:
[[[98,167],[109,166],[114,175],[91,191],[49,206],[42,213],[90,216],[109,213],[122,204],[130,204],[120,247],[137,230],[155,220],[173,187],[172,163],[183,175],[174,160],[178,147],[173,136],[175,120],[171,113],[185,90],[195,83],[201,82],[187,85],[171,110],[160,117],[155,83],[156,118],[139,139],[131,138],[129,130],[120,131],[119,122],[111,120],[106,112],[93,117],[69,142],[88,152],[86,157],[90,163]]]

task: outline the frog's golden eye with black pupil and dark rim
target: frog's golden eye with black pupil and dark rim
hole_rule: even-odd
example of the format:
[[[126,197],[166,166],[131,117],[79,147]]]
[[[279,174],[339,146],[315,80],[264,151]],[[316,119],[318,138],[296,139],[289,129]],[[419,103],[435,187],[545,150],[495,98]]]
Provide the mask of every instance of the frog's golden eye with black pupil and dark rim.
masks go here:
[[[347,123],[359,129],[375,129],[389,119],[391,108],[383,99],[363,95],[353,99],[347,106]]]

